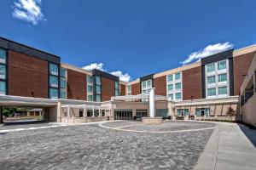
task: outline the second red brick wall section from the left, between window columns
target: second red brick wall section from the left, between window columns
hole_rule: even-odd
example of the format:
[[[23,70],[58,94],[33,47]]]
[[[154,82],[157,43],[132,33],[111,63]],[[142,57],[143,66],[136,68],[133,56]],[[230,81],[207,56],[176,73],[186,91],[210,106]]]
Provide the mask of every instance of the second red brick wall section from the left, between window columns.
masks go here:
[[[86,74],[67,69],[67,99],[87,99]]]

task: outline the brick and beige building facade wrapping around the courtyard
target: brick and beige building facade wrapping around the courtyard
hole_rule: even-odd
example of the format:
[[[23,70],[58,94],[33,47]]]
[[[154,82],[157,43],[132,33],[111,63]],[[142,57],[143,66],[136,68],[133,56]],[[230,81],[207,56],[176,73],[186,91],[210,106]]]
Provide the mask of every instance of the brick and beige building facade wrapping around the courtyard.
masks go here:
[[[150,74],[132,82],[121,82],[119,77],[107,72],[85,71],[61,63],[59,56],[0,37],[0,94],[20,99],[61,101],[55,103],[63,106],[60,109],[63,110],[62,116],[58,115],[59,121],[60,117],[67,116],[67,105],[72,105],[73,116],[76,117],[112,113],[114,119],[133,119],[135,116],[148,116],[148,99],[113,101],[112,97],[148,94],[154,88],[157,96],[166,97],[164,101],[156,101],[157,116],[225,119],[227,110],[232,108],[236,111],[236,120],[239,120],[241,113],[247,111],[244,107],[246,102],[242,99],[247,99],[248,94],[243,84],[246,83],[248,69],[253,67],[255,50],[256,45],[230,49],[191,65]],[[239,104],[239,96],[243,106]],[[7,104],[0,102],[0,105]],[[15,105],[20,105],[19,99]],[[89,105],[90,109],[85,111],[81,105]],[[48,112],[52,111],[55,109]],[[246,117],[242,120],[248,122]]]

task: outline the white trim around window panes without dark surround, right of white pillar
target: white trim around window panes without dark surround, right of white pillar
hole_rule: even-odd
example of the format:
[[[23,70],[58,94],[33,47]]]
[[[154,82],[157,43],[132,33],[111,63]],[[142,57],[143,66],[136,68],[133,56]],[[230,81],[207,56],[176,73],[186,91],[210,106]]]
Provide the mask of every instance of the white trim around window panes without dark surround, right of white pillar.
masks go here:
[[[175,100],[175,101],[181,101],[183,100],[183,72],[180,71],[180,79],[179,80],[176,80],[175,78],[175,74],[177,74],[178,72],[176,73],[173,73],[171,74],[172,75],[172,81],[171,82],[168,82],[168,76],[171,76],[171,75],[166,75],[166,97],[168,98],[168,100],[171,100],[169,99],[169,94],[172,94],[173,95],[173,99],[172,100]],[[176,89],[175,87],[175,84],[180,82],[181,83],[181,87],[180,89]],[[168,91],[168,85],[172,84],[172,91]],[[181,99],[176,99],[176,94],[177,93],[181,93]]]

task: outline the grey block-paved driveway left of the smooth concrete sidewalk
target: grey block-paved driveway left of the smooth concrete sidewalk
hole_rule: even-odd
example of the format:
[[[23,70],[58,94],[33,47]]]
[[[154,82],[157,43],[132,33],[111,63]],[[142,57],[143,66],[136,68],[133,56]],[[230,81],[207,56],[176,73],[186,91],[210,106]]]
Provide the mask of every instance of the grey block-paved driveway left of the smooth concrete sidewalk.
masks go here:
[[[172,122],[167,123],[173,126]],[[130,125],[134,126],[134,122],[119,122],[118,126]],[[201,127],[208,125],[201,124]],[[117,127],[114,122],[108,122],[108,126]],[[15,170],[192,169],[211,134],[212,129],[137,133],[99,124],[0,133],[0,167]]]

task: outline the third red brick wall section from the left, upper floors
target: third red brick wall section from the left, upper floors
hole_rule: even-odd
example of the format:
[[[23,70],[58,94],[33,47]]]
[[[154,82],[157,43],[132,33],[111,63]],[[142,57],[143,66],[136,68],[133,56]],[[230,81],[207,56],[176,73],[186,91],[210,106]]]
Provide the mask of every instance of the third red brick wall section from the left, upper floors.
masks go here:
[[[108,101],[114,96],[114,81],[102,77],[102,101]]]

